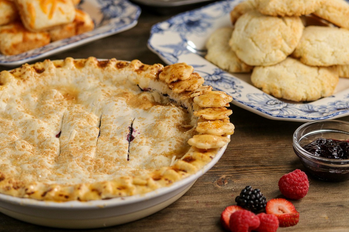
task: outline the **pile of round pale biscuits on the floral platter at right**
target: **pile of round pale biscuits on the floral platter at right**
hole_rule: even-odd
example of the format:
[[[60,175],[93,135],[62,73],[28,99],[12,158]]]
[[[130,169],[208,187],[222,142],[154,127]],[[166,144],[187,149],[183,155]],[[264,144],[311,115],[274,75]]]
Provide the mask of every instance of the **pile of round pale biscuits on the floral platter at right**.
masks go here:
[[[252,71],[265,93],[315,101],[349,78],[345,0],[245,0],[230,18],[232,27],[210,35],[206,59],[228,72]]]

